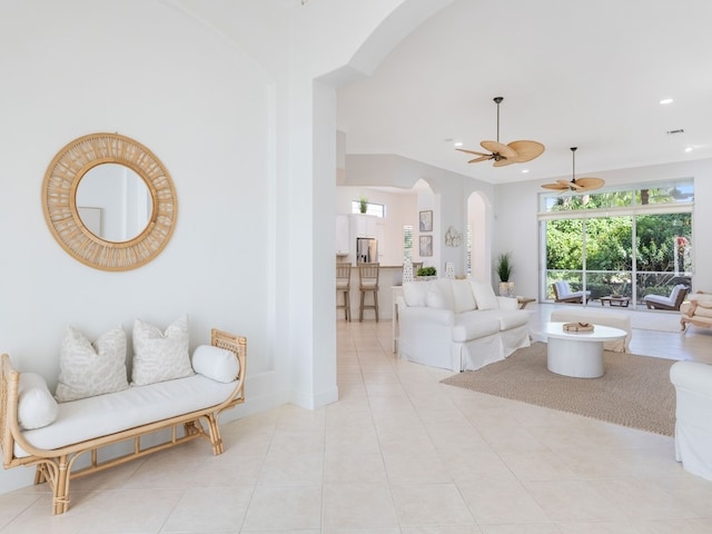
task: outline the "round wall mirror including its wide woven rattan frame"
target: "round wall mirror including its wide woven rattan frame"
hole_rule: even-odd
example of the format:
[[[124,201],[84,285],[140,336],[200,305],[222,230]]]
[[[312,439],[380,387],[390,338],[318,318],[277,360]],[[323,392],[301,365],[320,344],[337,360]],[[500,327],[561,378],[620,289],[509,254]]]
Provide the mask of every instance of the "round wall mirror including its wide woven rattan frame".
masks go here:
[[[52,235],[73,258],[97,269],[129,270],[166,247],[177,199],[150,150],[118,134],[91,134],[50,164],[42,208]]]

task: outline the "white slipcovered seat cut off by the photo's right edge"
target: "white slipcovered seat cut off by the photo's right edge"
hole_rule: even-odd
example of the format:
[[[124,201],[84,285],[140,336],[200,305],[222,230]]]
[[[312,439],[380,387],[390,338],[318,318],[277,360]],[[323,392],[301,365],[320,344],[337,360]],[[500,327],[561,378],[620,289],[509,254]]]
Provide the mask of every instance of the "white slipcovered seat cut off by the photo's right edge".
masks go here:
[[[675,362],[675,459],[690,473],[712,481],[712,365]]]

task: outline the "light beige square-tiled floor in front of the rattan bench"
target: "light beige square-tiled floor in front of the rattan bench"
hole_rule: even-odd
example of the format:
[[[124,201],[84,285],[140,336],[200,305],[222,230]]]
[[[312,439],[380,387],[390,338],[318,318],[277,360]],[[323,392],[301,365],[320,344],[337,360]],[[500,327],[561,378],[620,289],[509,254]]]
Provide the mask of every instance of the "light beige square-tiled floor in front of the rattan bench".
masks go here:
[[[337,333],[338,403],[225,424],[221,456],[192,442],[75,481],[61,516],[44,486],[1,495],[0,532],[712,533],[712,482],[672,438],[444,386],[392,354],[389,322]],[[636,329],[632,348],[709,360],[712,333]]]

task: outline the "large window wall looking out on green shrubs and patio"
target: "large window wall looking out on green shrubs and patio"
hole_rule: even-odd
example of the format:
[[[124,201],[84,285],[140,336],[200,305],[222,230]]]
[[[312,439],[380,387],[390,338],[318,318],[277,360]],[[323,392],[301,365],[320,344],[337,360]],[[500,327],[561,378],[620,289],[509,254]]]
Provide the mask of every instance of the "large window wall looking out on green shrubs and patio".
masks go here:
[[[567,280],[590,299],[641,303],[692,284],[692,180],[595,195],[542,195],[542,297]]]

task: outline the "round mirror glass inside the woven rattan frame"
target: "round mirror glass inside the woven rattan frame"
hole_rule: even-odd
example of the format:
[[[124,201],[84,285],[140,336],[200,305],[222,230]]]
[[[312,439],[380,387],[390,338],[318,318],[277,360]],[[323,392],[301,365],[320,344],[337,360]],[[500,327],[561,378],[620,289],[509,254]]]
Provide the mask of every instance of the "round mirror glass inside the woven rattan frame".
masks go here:
[[[101,164],[89,169],[77,187],[77,211],[95,236],[123,243],[148,226],[152,204],[146,181],[130,167]]]

